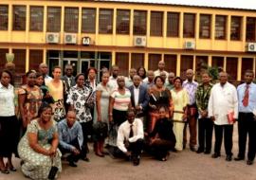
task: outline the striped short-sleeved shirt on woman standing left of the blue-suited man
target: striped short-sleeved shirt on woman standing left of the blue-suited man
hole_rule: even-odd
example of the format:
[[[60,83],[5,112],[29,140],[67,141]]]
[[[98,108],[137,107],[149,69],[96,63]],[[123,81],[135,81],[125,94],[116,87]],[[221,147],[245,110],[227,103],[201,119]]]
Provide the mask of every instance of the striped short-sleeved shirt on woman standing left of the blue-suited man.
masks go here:
[[[129,107],[129,103],[131,101],[131,93],[129,89],[125,88],[125,93],[124,95],[121,95],[119,93],[118,89],[115,89],[111,97],[114,99],[114,109],[119,110],[119,111],[127,111]]]

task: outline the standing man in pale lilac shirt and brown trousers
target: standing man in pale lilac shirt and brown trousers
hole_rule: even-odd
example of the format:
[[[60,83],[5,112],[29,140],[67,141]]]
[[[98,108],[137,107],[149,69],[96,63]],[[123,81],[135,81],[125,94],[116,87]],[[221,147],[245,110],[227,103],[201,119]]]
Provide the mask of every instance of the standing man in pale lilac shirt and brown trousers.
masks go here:
[[[183,146],[186,148],[187,144],[187,124],[190,127],[190,148],[192,152],[195,152],[196,146],[196,118],[198,117],[196,103],[195,103],[195,92],[198,86],[196,81],[193,81],[193,71],[188,69],[186,71],[187,80],[183,82],[182,86],[185,88],[190,97],[190,103],[187,106],[187,123],[184,127]]]

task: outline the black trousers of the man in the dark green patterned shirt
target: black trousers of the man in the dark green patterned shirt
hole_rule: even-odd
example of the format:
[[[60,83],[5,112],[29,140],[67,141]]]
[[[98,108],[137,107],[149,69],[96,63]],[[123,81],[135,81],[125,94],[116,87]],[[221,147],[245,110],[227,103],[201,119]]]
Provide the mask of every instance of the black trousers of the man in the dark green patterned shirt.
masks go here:
[[[198,149],[201,151],[211,151],[213,122],[210,118],[198,119]]]

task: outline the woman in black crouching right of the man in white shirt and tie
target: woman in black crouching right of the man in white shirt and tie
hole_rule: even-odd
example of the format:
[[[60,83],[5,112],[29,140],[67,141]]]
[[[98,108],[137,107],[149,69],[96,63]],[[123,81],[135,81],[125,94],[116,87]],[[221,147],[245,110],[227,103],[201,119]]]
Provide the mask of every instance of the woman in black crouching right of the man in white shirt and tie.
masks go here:
[[[169,150],[173,150],[175,146],[175,135],[173,132],[173,123],[166,117],[165,107],[159,108],[159,119],[155,123],[155,128],[150,134],[151,147],[154,155],[158,160],[166,161]]]

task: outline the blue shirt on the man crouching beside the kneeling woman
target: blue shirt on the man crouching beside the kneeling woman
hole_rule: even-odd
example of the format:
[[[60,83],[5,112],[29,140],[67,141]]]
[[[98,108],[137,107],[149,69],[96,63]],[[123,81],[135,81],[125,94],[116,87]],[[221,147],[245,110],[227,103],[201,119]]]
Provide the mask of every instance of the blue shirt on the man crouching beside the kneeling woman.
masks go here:
[[[58,123],[59,143],[65,150],[72,151],[74,146],[69,143],[78,138],[80,148],[82,148],[82,126],[76,121],[71,128],[67,126],[66,119],[63,119]]]

